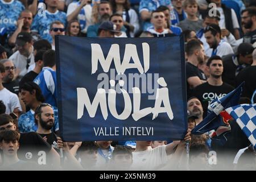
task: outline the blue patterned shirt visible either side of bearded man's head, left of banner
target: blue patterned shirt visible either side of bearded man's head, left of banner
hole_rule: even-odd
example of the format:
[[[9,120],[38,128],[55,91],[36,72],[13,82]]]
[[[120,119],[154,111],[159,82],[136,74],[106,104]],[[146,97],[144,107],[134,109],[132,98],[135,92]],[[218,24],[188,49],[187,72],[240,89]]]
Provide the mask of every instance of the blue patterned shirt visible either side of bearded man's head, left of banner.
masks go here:
[[[54,126],[52,128],[52,131],[59,130],[59,117],[58,117],[58,110],[56,107],[53,107],[54,112]],[[27,133],[31,131],[35,131],[38,129],[38,125],[35,124],[35,118],[34,118],[35,112],[32,110],[27,111],[27,113],[24,113],[20,115],[18,120],[18,127],[20,133]]]

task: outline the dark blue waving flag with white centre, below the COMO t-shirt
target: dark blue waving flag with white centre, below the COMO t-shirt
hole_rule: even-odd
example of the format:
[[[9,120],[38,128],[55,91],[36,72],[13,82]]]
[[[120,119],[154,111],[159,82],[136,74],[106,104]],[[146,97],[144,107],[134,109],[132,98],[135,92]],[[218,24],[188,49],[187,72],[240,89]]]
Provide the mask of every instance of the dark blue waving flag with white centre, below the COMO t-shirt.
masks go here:
[[[242,93],[242,86],[244,82],[240,84],[236,89],[232,92],[226,94],[226,96],[221,98],[216,98],[210,102],[208,106],[208,115],[204,118],[203,121],[199,123],[192,131],[192,134],[201,135],[210,130],[216,130],[219,126],[224,125],[223,119],[221,119],[221,111],[228,107],[238,105],[240,100],[240,96]]]

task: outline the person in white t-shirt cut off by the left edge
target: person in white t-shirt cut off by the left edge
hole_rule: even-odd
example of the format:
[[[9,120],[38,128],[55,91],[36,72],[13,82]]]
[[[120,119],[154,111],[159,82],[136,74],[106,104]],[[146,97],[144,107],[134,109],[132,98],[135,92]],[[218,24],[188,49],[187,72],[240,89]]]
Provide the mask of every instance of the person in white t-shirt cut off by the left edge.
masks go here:
[[[19,98],[16,94],[3,87],[2,79],[4,75],[5,66],[0,63],[0,100],[2,100],[6,106],[6,114],[15,113],[16,115],[19,115],[19,112],[22,111]]]

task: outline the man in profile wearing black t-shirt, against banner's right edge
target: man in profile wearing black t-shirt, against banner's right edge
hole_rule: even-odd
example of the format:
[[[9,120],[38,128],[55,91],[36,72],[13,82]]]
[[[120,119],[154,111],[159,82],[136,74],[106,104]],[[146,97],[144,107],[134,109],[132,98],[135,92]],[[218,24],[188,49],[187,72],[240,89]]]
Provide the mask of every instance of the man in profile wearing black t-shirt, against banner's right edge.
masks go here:
[[[191,89],[197,85],[203,84],[206,77],[200,69],[197,68],[199,63],[204,61],[204,47],[200,40],[190,40],[186,47],[188,61],[186,63],[186,78],[187,78],[187,98],[191,97]]]

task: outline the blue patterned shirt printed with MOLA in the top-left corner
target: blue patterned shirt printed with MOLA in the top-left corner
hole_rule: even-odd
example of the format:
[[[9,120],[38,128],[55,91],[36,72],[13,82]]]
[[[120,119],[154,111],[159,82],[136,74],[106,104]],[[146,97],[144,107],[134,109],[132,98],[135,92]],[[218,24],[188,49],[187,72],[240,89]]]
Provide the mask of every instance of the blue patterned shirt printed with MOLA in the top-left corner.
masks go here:
[[[20,13],[25,9],[20,1],[5,2],[0,0],[0,29],[4,28],[6,34],[16,30]]]

